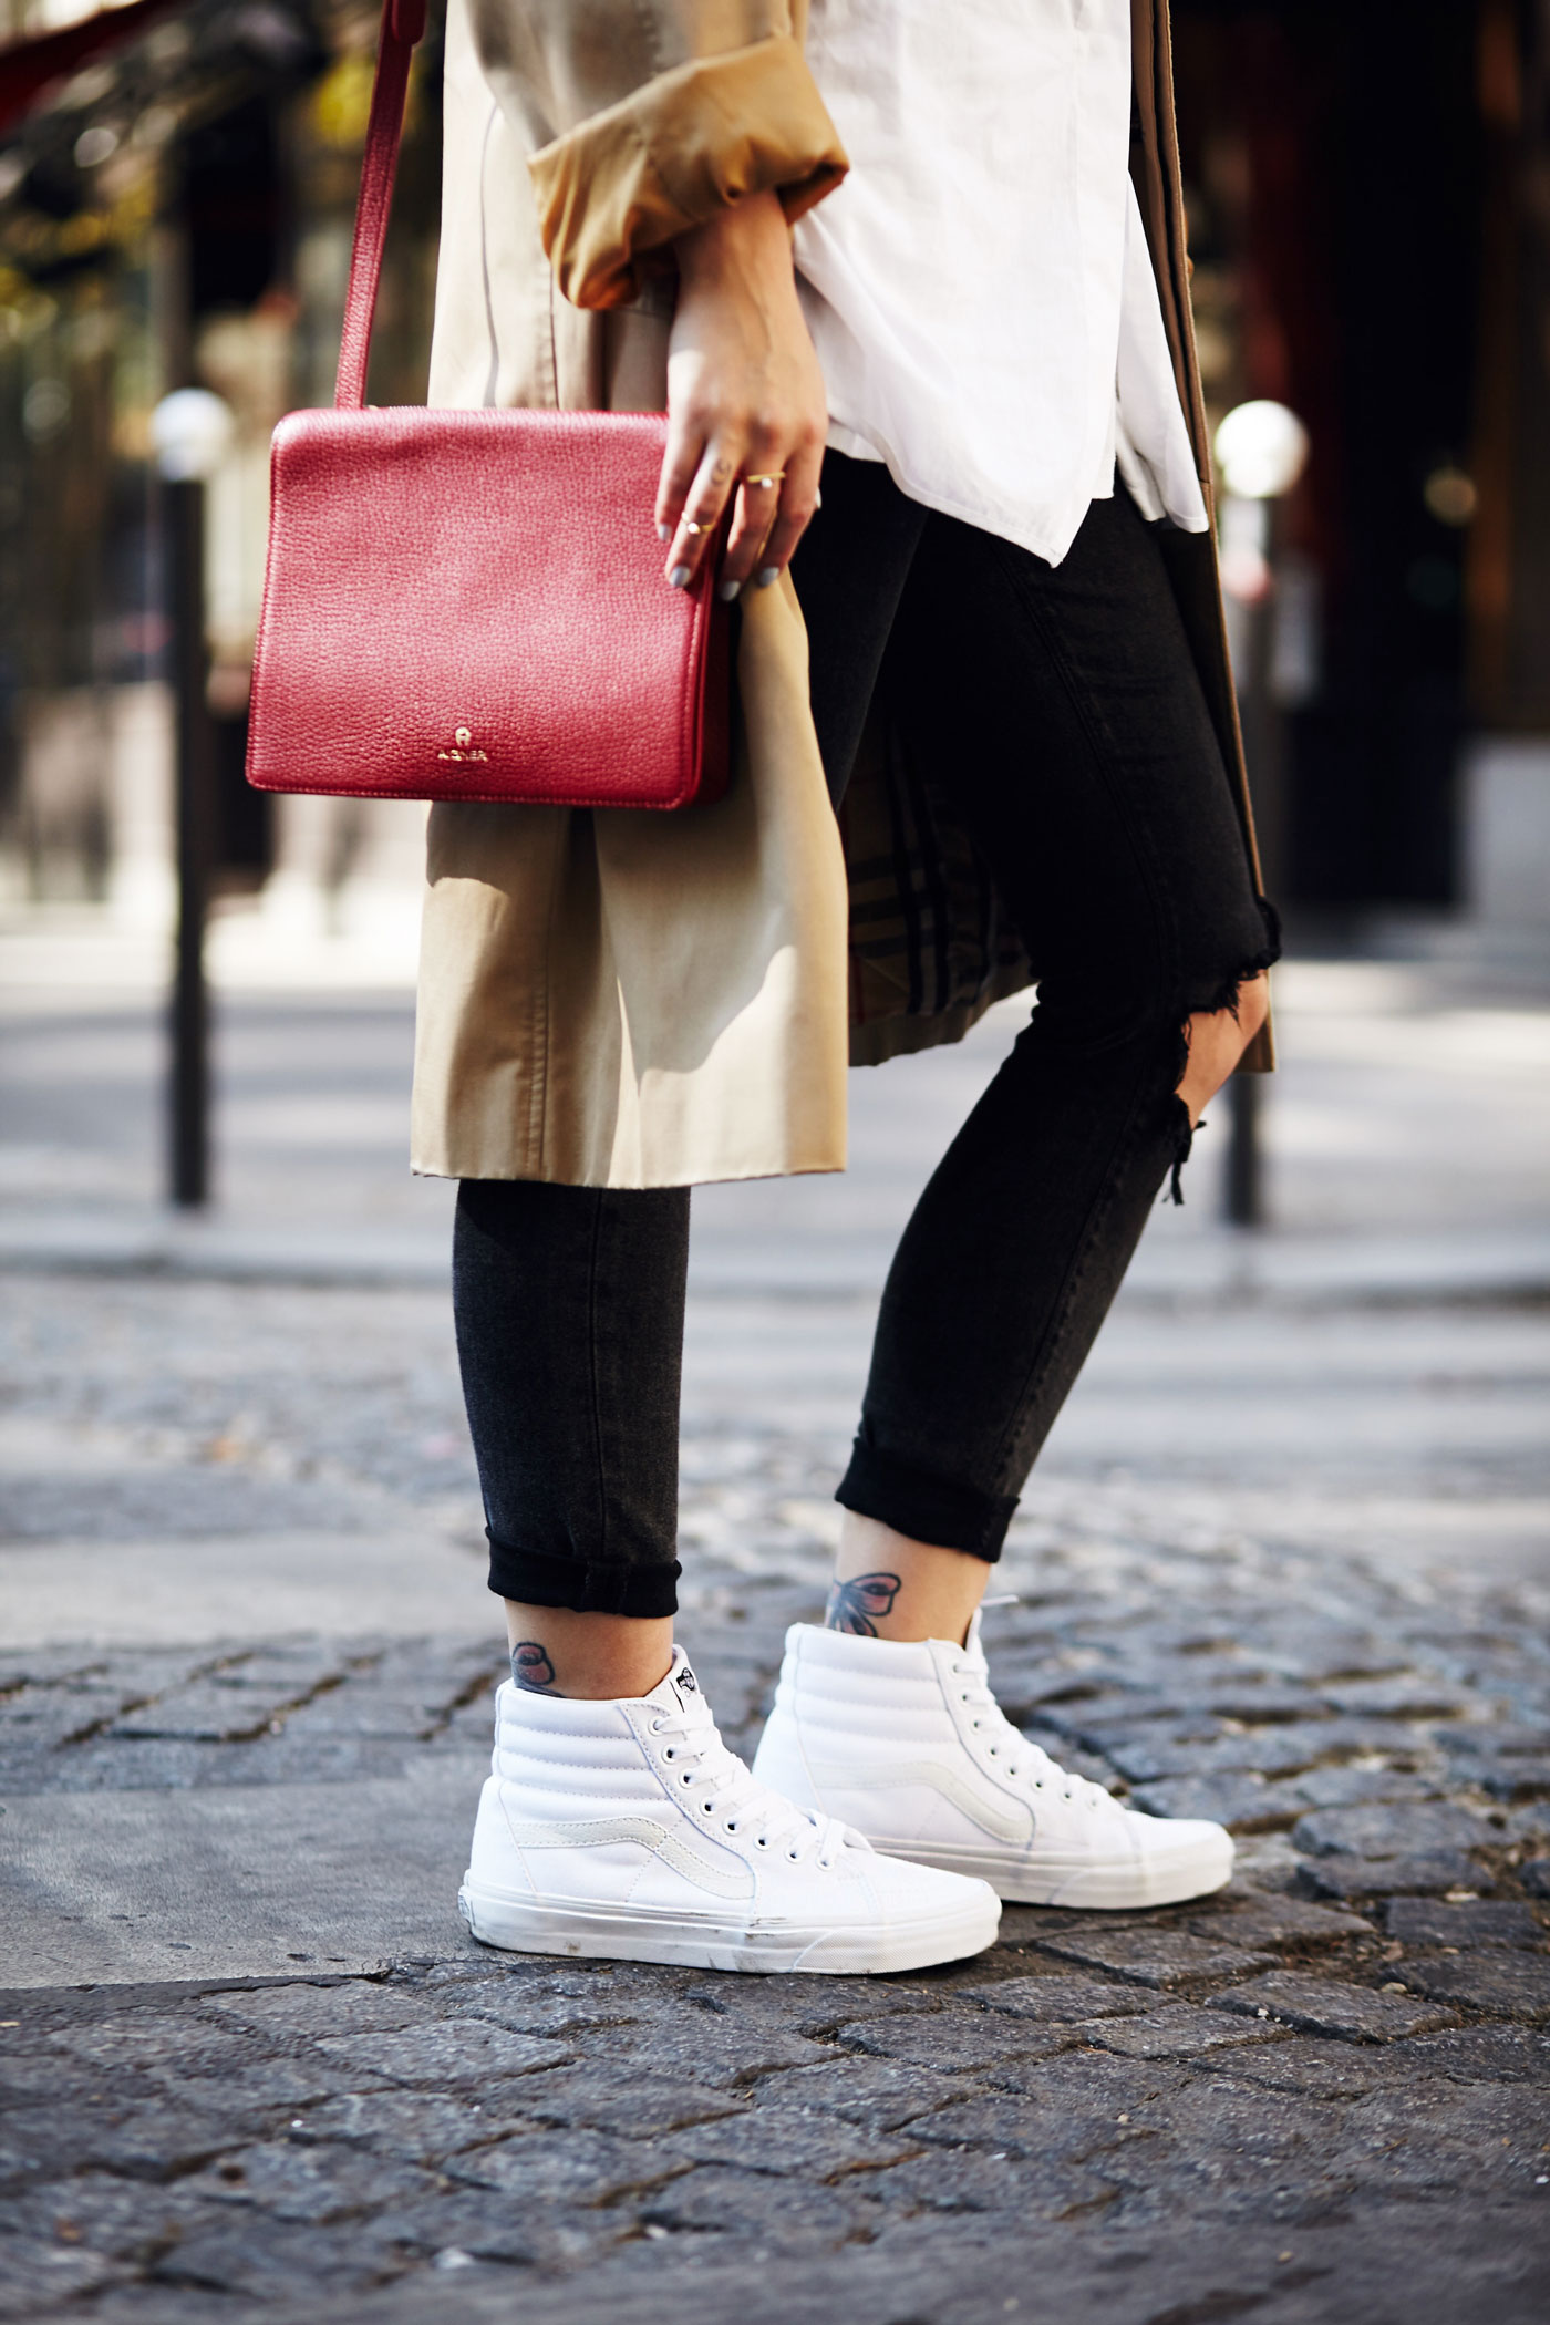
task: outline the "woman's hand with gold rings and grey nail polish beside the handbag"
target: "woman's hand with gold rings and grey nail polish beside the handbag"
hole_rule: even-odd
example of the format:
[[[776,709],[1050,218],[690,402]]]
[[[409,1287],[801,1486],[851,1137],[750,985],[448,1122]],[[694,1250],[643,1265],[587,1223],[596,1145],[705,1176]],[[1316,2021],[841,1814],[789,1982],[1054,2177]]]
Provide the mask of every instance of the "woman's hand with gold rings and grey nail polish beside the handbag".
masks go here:
[[[823,372],[774,193],[681,235],[676,256],[658,532],[672,542],[667,579],[688,588],[737,495],[720,567],[720,595],[737,598],[751,577],[760,588],[776,579],[818,507]],[[765,477],[776,481],[755,481]]]

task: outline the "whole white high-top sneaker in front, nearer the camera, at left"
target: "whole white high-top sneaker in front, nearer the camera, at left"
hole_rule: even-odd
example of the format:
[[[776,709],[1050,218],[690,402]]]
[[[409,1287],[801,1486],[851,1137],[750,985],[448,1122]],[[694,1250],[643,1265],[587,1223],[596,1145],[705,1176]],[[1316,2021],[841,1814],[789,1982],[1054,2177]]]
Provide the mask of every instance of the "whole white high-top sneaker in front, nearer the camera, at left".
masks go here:
[[[981,1953],[1002,1916],[983,1881],[876,1855],[758,1783],[683,1648],[644,1697],[497,1688],[458,1911],[511,1953],[851,1974]]]

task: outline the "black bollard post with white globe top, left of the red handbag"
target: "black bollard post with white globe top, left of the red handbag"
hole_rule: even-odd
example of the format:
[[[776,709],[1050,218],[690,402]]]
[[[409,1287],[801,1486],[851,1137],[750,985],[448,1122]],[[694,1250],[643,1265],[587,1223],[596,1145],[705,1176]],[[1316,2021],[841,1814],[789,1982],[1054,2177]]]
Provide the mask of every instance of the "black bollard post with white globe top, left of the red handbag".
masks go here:
[[[232,432],[232,414],[204,388],[165,395],[151,416],[163,488],[167,621],[172,630],[177,937],[167,1070],[167,1195],[179,1209],[209,1202],[209,993],[204,921],[214,856],[214,730],[204,646],[204,479]]]

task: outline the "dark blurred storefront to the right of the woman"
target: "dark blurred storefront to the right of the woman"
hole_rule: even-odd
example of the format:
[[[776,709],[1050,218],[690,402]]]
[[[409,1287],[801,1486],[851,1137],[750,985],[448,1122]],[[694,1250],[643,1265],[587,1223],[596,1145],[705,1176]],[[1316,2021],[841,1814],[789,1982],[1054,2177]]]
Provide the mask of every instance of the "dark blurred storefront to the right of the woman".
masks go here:
[[[1550,5],[1174,0],[1174,40],[1208,402],[1311,437],[1276,886],[1550,932]]]

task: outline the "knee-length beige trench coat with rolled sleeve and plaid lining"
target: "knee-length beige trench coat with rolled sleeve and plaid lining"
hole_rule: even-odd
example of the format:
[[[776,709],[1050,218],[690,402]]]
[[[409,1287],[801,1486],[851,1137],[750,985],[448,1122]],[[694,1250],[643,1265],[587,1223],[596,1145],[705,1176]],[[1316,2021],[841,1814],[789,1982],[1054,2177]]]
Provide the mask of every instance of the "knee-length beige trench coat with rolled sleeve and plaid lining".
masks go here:
[[[846,170],[806,0],[449,0],[432,405],[660,409],[669,244]],[[1167,0],[1132,0],[1141,193],[1206,498]],[[1211,535],[1169,570],[1253,851]],[[414,1167],[688,1186],[841,1169],[846,1063],[957,1039],[1036,965],[881,702],[837,828],[790,581],[751,593],[725,800],[430,814]],[[1269,1065],[1262,1037],[1253,1065]]]

